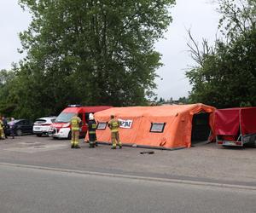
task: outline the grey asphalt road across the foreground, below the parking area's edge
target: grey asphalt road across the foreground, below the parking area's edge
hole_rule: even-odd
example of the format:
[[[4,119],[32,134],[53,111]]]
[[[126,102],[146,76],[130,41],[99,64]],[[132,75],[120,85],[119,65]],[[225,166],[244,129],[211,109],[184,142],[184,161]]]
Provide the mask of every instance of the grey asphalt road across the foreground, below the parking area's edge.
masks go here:
[[[0,212],[255,212],[255,190],[0,166]]]

